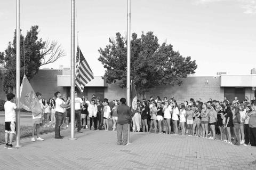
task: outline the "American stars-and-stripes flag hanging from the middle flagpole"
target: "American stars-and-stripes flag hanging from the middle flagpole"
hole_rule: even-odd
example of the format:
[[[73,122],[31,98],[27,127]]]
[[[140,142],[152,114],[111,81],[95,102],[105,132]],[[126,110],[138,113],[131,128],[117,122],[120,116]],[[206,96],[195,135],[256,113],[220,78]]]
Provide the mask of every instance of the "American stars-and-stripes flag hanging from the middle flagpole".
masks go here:
[[[93,79],[93,72],[84,58],[82,51],[77,46],[76,52],[76,87],[81,93],[84,91],[84,86]]]

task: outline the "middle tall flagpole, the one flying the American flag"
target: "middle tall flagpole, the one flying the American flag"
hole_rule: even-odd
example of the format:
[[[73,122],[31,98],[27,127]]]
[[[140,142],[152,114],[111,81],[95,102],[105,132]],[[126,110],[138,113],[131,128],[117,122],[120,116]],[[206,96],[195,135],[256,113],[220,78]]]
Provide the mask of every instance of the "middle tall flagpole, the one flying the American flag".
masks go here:
[[[70,86],[70,140],[75,140],[75,0],[71,0],[71,86]]]

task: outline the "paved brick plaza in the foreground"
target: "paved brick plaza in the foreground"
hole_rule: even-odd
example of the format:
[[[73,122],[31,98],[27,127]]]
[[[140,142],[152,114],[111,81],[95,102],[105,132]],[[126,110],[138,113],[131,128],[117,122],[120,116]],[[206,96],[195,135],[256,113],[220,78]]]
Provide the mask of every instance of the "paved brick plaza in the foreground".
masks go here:
[[[130,133],[132,144],[123,146],[116,132],[82,130],[74,141],[65,130],[63,140],[50,133],[22,140],[18,150],[1,145],[1,169],[256,169],[256,147],[154,133]]]

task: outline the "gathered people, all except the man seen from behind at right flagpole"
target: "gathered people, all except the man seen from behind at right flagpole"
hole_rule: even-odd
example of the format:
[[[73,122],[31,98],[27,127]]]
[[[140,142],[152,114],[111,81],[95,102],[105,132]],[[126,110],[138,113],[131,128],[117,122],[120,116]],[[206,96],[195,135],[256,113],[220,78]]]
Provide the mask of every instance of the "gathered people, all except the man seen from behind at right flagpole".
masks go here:
[[[55,139],[63,139],[60,135],[60,127],[69,127],[70,123],[70,98],[61,96],[56,92],[53,98],[41,99],[42,94],[36,93],[41,103],[42,113],[33,113],[33,136],[31,141],[43,141],[39,137],[40,126],[55,127]],[[15,96],[7,94],[5,103],[5,148],[12,148],[12,138],[15,134]],[[157,96],[155,100],[138,100],[137,109],[131,109],[130,131],[154,132],[173,135],[188,135],[216,139],[216,133],[220,134],[220,140],[235,145],[256,146],[256,101],[249,102],[244,99],[239,102],[237,98],[229,102],[210,99],[202,102],[201,99],[190,99],[180,104],[173,98],[163,99]],[[77,132],[82,128],[94,130],[115,131],[118,123],[119,101],[108,99],[101,100],[95,95],[89,101],[87,96],[79,98],[75,92],[75,126]],[[10,116],[11,115],[11,116]],[[87,117],[90,118],[90,126],[87,125]],[[14,123],[13,123],[14,122]],[[112,127],[109,127],[109,124]],[[36,132],[36,137],[34,133]],[[10,135],[9,135],[10,134]],[[10,144],[8,144],[8,135]],[[7,136],[7,137],[6,137]]]

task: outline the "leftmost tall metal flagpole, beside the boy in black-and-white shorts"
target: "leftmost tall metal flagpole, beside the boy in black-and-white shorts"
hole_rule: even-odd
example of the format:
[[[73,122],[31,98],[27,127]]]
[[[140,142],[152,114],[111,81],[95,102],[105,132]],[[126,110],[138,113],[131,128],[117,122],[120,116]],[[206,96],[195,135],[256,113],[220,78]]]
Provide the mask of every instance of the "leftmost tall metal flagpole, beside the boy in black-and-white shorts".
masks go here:
[[[16,98],[17,108],[20,109],[20,0],[16,0]],[[20,110],[17,112],[16,146],[20,145]]]

